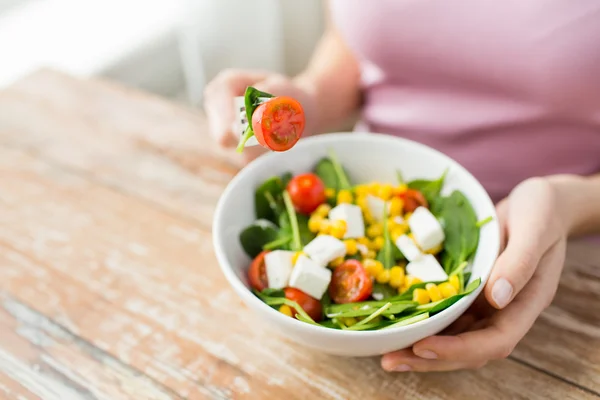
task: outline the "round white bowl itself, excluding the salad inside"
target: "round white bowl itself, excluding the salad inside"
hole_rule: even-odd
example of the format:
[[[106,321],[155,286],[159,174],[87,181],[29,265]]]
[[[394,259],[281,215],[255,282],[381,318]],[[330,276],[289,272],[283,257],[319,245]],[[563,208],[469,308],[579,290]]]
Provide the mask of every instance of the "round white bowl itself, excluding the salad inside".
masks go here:
[[[449,168],[442,193],[459,189],[470,200],[478,219],[493,221],[481,230],[471,280],[481,278],[479,288],[446,310],[412,325],[379,331],[342,331],[313,326],[289,318],[264,304],[248,289],[246,270],[250,259],[239,243],[241,230],[254,221],[254,191],[267,178],[286,171],[311,171],[332,149],[348,170],[353,183],[397,182],[396,171],[407,180],[438,178]],[[495,207],[481,184],[456,161],[427,146],[409,140],[371,133],[336,133],[302,139],[290,151],[269,153],[246,166],[221,196],[213,224],[217,259],[227,280],[244,302],[285,337],[323,353],[341,356],[373,356],[409,347],[439,333],[473,303],[483,289],[498,255],[500,230]],[[265,340],[267,340],[265,338]]]

